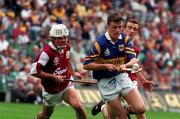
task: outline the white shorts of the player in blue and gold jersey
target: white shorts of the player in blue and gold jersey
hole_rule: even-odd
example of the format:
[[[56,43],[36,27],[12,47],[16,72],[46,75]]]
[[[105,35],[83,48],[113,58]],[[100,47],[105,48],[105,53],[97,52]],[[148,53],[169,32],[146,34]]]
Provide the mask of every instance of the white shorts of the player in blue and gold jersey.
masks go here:
[[[124,96],[136,85],[131,81],[127,73],[120,73],[112,78],[103,78],[98,87],[104,101],[112,101],[119,96]]]

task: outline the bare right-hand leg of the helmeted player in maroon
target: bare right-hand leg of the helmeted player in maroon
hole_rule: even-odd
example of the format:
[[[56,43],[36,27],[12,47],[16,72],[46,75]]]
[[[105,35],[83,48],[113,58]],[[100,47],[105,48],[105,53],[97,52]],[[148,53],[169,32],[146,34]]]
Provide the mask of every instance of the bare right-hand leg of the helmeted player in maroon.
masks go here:
[[[85,108],[80,102],[78,93],[74,88],[69,88],[64,92],[63,100],[74,108],[77,119],[87,119]]]

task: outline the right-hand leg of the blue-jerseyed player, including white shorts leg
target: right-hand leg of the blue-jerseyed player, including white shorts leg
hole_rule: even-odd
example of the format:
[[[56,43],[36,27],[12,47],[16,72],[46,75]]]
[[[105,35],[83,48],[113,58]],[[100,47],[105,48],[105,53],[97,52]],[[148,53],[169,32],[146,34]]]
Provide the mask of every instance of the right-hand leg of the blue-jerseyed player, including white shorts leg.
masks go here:
[[[137,89],[137,86],[131,81],[127,73],[116,76],[117,83],[121,87],[121,95],[130,105],[126,107],[129,114],[142,114],[145,112],[145,104]]]

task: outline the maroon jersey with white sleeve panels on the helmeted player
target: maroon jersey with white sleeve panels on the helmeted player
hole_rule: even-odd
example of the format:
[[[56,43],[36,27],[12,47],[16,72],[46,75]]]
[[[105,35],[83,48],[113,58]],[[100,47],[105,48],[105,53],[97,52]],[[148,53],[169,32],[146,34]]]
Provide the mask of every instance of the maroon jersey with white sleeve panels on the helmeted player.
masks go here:
[[[54,45],[50,42],[35,58],[31,68],[31,74],[44,71],[50,74],[66,76],[66,79],[70,79],[71,74],[68,72],[69,61],[70,46],[67,45],[64,50],[58,52]],[[69,84],[68,82],[57,84],[49,79],[43,79],[41,80],[41,83],[44,89],[49,93],[58,93],[64,90]]]

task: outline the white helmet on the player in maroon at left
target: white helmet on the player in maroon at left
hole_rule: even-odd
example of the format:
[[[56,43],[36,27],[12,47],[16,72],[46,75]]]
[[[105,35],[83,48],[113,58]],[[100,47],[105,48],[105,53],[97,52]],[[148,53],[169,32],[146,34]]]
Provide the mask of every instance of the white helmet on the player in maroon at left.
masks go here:
[[[49,31],[50,37],[69,36],[69,30],[64,24],[54,24]]]

